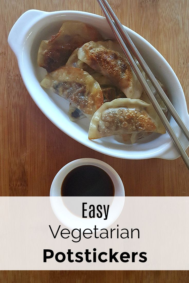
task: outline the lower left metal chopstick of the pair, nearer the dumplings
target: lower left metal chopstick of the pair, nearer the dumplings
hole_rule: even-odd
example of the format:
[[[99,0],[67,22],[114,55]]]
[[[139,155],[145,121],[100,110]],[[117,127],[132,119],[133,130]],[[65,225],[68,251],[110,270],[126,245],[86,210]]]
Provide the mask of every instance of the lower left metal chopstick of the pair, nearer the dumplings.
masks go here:
[[[145,78],[143,77],[143,74],[141,73],[139,67],[137,66],[135,60],[133,59],[133,57],[131,56],[131,53],[129,52],[124,40],[122,39],[121,35],[118,32],[118,27],[116,26],[116,24],[114,24],[114,22],[112,21],[111,17],[109,16],[106,8],[104,7],[102,1],[104,0],[97,0],[103,13],[105,14],[105,17],[114,33],[114,35],[116,36],[118,42],[120,43],[129,63],[131,64],[131,67],[133,68],[133,71],[135,72],[137,78],[139,79],[139,82],[141,83],[141,85],[143,86],[146,94],[148,95],[150,102],[152,103],[152,105],[154,106],[156,112],[158,113],[161,121],[163,122],[165,128],[167,129],[167,132],[169,133],[171,139],[173,140],[173,142],[175,143],[180,155],[182,156],[182,159],[184,160],[188,170],[189,170],[189,158],[186,154],[186,152],[184,151],[184,148],[182,147],[179,139],[177,138],[173,128],[171,127],[171,125],[169,124],[169,121],[167,120],[167,118],[165,117],[165,114],[163,113],[161,107],[159,106],[156,98],[154,97],[150,87],[148,86]],[[106,1],[107,2],[107,1]],[[134,45],[134,44],[133,44]],[[140,53],[139,53],[140,54]],[[141,56],[141,55],[140,55]],[[148,68],[149,69],[149,68]],[[157,82],[158,83],[158,82]],[[159,86],[160,87],[160,86]],[[161,88],[161,87],[160,87]]]

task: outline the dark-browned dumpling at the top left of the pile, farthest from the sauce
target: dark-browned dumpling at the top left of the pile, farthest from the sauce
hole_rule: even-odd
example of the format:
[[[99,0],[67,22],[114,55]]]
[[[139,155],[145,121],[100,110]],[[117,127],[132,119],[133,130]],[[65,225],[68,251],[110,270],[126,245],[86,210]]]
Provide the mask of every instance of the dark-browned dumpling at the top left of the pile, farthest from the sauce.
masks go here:
[[[50,40],[42,40],[37,57],[37,63],[47,72],[52,72],[65,65],[75,48],[89,40],[97,41],[102,36],[86,23],[68,21],[63,23],[57,35]]]

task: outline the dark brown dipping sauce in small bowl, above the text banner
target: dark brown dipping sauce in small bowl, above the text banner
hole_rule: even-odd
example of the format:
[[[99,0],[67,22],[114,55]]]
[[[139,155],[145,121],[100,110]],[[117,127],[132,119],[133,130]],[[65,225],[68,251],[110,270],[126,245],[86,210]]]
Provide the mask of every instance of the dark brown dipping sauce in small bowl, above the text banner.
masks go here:
[[[61,196],[114,196],[110,176],[94,165],[74,168],[64,178]]]

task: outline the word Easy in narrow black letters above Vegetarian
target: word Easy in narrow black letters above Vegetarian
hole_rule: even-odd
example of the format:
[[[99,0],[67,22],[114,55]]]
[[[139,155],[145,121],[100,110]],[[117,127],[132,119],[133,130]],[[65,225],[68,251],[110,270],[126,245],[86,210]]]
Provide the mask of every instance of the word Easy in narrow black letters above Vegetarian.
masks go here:
[[[93,204],[90,204],[88,209],[87,209],[87,202],[83,202],[82,203],[82,218],[87,218],[89,216],[89,218],[101,218],[103,213],[105,215],[104,220],[107,220],[108,218],[108,211],[109,211],[109,204],[106,205],[104,204],[103,206],[98,204],[95,208],[95,206]],[[85,212],[86,211],[86,212]],[[88,213],[88,216],[86,215]]]

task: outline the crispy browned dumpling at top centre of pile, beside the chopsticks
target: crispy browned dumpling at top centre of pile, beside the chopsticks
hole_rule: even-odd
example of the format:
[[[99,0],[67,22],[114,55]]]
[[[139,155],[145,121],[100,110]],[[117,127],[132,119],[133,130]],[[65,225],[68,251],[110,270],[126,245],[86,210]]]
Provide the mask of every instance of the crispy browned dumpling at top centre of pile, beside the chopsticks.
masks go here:
[[[133,72],[120,46],[109,41],[85,43],[78,50],[78,58],[96,72],[103,74],[114,83],[128,98],[140,98],[143,88]],[[109,49],[109,44],[114,50]]]

